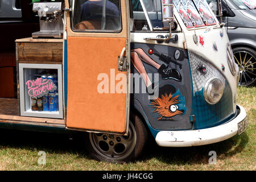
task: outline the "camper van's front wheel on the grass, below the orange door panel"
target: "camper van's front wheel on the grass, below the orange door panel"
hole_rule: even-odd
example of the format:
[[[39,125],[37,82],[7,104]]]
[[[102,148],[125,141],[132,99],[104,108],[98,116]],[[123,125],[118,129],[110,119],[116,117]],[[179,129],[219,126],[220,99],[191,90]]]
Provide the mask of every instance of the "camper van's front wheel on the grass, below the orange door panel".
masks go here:
[[[124,163],[137,159],[147,142],[146,127],[137,115],[131,115],[127,136],[89,133],[86,148],[96,160]]]

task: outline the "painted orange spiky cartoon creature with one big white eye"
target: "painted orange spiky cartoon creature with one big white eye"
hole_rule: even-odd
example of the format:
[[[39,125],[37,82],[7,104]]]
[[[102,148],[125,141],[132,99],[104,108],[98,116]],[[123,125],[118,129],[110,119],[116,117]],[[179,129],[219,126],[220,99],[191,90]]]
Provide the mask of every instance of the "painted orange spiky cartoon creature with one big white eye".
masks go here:
[[[151,106],[155,108],[154,113],[158,113],[161,115],[160,118],[158,118],[158,121],[160,119],[169,119],[173,120],[171,117],[183,114],[183,110],[178,110],[179,106],[176,104],[179,104],[178,100],[179,96],[173,97],[172,94],[164,94],[162,97],[158,97],[156,100],[151,102]]]

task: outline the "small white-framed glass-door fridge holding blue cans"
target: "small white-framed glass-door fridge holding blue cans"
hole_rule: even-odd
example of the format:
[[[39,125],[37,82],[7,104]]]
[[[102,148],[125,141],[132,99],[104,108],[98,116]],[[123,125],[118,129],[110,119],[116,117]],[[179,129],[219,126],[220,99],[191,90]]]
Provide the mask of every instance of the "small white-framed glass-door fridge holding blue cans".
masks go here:
[[[19,64],[20,115],[63,118],[59,64]]]

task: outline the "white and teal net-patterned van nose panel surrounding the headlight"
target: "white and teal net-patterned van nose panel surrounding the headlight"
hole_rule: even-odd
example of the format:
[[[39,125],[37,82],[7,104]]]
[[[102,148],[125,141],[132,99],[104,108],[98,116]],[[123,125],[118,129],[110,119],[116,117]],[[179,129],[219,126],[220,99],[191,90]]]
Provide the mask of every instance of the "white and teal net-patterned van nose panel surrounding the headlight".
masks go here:
[[[188,57],[192,78],[192,115],[195,115],[193,129],[207,129],[221,125],[234,118],[232,90],[225,75],[216,68],[209,60],[188,51]],[[200,66],[204,64],[206,73],[200,72]],[[204,98],[205,83],[212,77],[220,79],[224,83],[224,92],[217,104],[208,104]]]

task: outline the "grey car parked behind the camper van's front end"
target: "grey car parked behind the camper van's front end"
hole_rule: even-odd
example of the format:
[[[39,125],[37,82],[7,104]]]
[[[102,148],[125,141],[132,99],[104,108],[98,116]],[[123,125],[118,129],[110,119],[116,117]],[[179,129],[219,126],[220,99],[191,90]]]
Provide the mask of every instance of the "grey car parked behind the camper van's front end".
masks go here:
[[[218,16],[217,0],[207,0],[207,2],[214,14]],[[255,2],[255,0],[221,1],[222,22],[225,23],[233,55],[240,67],[240,81],[238,85],[242,86],[254,85],[256,78]]]

